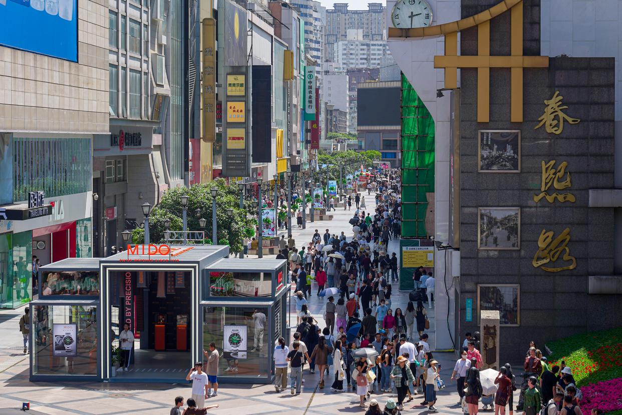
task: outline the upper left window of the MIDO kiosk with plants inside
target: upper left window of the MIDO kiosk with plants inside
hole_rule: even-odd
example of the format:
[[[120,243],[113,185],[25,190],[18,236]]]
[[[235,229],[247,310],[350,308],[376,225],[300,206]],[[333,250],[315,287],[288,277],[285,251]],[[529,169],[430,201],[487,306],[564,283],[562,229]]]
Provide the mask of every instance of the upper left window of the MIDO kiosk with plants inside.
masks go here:
[[[47,272],[41,276],[43,296],[99,296],[100,272]]]

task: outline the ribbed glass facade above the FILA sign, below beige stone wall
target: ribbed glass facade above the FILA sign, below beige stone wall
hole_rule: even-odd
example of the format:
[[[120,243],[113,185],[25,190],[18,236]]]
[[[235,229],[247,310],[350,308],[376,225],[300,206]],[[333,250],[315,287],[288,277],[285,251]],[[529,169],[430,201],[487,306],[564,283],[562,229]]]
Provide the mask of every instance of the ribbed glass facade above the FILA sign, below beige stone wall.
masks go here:
[[[91,190],[91,140],[13,138],[13,200],[43,190],[56,197]]]

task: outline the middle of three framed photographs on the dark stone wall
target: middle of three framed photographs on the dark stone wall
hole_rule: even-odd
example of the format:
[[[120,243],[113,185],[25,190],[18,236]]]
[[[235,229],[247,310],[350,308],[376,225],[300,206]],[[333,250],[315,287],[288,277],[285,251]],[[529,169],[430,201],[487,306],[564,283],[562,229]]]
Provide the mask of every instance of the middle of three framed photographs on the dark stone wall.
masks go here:
[[[478,249],[521,249],[521,208],[480,207]]]

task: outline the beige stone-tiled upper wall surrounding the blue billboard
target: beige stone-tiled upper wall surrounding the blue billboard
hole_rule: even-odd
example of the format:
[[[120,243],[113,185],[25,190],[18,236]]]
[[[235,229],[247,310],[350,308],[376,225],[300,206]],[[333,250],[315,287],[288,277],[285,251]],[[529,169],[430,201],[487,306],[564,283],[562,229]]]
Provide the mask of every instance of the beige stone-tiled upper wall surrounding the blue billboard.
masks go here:
[[[108,133],[107,2],[78,1],[78,63],[0,47],[0,131],[19,130]]]

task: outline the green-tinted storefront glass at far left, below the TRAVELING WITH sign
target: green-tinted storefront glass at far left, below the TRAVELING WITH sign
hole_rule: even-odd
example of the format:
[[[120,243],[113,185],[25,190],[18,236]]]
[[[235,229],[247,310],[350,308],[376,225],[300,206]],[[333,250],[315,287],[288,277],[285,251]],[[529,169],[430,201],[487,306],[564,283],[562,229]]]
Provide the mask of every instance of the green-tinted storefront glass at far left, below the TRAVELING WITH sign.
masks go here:
[[[0,235],[0,308],[32,298],[32,231]]]

